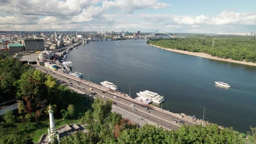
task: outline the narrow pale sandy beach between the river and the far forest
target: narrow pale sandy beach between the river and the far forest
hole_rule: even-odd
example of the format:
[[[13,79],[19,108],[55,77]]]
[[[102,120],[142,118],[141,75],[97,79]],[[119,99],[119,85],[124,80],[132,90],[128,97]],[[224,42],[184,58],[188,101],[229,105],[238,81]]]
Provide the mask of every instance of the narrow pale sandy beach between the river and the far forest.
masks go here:
[[[151,45],[151,46],[154,46],[154,45]],[[203,52],[188,52],[188,51],[177,50],[177,49],[166,49],[166,48],[163,48],[163,47],[160,47],[160,46],[154,46],[154,47],[157,47],[157,48],[160,48],[160,49],[165,49],[165,50],[172,51],[172,52],[184,53],[184,54],[192,55],[192,56],[200,56],[200,57],[207,58],[207,59],[215,59],[215,60],[221,60],[221,61],[225,61],[225,62],[234,62],[234,63],[243,64],[243,65],[256,66],[256,63],[253,63],[253,62],[236,61],[236,60],[233,60],[233,59],[218,58],[217,56],[211,56],[211,55],[209,55],[207,53],[203,53]]]

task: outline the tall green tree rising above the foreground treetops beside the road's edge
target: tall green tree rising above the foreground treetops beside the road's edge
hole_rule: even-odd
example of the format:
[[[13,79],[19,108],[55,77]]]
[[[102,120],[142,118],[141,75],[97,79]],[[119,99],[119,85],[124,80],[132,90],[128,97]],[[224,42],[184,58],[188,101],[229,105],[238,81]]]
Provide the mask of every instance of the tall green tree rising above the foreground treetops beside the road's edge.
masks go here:
[[[95,98],[92,104],[93,116],[100,124],[106,120],[112,109],[112,101],[103,101],[102,98]]]

